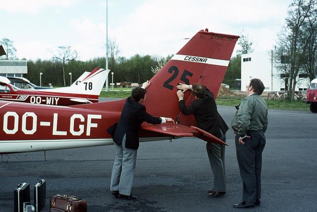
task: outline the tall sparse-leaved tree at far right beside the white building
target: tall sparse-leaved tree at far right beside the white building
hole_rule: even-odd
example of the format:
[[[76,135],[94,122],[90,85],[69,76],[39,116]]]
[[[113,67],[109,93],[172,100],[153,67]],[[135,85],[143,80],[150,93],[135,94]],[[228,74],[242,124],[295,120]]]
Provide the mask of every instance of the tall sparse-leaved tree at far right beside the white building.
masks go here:
[[[316,53],[308,53],[309,48],[315,48],[314,44],[310,44],[314,32],[306,31],[316,21],[316,5],[317,0],[294,0],[289,6],[285,25],[278,35],[275,64],[276,68],[285,74],[285,81],[288,82],[287,96],[292,101],[297,77],[299,73],[304,72],[307,62],[310,61],[307,57],[316,57]],[[316,42],[316,38],[313,38],[313,42]]]

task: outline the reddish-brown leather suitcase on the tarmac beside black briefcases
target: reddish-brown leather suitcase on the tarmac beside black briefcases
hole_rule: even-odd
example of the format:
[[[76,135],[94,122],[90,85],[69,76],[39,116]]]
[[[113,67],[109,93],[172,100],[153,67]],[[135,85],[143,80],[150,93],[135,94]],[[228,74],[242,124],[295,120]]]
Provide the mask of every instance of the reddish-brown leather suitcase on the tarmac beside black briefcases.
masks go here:
[[[87,201],[75,196],[54,195],[50,199],[50,212],[87,212]]]

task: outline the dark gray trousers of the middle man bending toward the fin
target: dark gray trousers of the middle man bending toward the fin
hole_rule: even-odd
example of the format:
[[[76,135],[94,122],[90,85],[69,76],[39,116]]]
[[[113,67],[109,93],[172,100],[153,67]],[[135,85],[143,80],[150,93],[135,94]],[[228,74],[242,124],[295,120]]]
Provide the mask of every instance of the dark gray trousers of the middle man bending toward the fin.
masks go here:
[[[221,132],[221,131],[220,131]],[[226,141],[225,134],[221,132],[222,141]],[[213,191],[226,191],[226,173],[224,166],[225,145],[218,143],[207,142],[206,144],[209,162],[213,173]]]

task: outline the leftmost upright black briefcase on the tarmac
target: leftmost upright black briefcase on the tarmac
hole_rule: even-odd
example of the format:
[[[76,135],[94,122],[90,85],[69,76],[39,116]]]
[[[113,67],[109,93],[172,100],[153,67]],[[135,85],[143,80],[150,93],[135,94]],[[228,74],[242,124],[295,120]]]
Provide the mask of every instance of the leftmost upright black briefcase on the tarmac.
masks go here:
[[[23,203],[30,202],[30,184],[22,183],[14,190],[14,212],[23,212]]]

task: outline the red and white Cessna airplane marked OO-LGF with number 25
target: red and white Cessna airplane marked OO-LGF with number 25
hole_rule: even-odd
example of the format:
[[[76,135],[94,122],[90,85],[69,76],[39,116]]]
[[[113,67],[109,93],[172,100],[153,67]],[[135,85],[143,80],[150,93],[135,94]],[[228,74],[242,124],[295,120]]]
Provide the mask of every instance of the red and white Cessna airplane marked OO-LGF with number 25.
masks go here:
[[[195,127],[194,116],[178,108],[178,83],[203,83],[216,96],[239,36],[199,31],[150,80],[144,105],[155,116],[171,117],[177,124],[143,123],[140,141],[197,137],[218,142]],[[185,92],[186,104],[194,99]],[[113,144],[106,132],[118,122],[125,99],[53,106],[0,101],[0,154]]]

